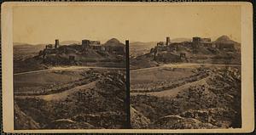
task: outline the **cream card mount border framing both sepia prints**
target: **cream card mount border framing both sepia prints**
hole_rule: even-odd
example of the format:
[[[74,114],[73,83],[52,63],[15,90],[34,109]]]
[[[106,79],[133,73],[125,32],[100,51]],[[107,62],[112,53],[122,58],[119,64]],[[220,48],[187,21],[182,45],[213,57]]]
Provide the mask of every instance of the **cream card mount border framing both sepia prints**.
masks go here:
[[[253,102],[253,5],[246,2],[219,3],[154,3],[154,6],[168,5],[240,5],[241,6],[241,69],[242,69],[242,127],[236,129],[180,129],[180,130],[152,130],[152,129],[96,129],[96,130],[14,130],[14,98],[13,98],[13,46],[12,46],[12,8],[13,6],[84,6],[93,5],[133,5],[147,6],[153,3],[35,3],[35,2],[5,2],[2,4],[2,87],[3,87],[3,131],[4,132],[253,132],[254,130],[254,102]],[[244,47],[246,45],[246,47]]]

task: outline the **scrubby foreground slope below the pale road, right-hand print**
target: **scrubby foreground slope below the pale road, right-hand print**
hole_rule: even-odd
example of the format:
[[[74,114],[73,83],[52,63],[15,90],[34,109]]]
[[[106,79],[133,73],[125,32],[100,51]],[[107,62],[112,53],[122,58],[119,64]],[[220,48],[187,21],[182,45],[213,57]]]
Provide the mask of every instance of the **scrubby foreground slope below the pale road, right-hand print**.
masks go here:
[[[131,117],[132,128],[241,127],[241,67],[132,71]]]

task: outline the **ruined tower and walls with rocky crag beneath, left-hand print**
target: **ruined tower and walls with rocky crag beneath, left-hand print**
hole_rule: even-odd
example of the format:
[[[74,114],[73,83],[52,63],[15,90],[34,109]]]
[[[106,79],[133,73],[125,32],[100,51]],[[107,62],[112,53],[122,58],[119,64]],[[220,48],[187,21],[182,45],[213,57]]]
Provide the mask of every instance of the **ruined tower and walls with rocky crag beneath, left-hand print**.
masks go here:
[[[38,58],[44,59],[43,63],[50,65],[81,65],[84,62],[119,61],[125,57],[125,44],[118,40],[101,44],[100,41],[84,39],[81,44],[60,45],[55,40],[55,45],[48,44],[38,53]],[[111,42],[111,40],[109,40]]]

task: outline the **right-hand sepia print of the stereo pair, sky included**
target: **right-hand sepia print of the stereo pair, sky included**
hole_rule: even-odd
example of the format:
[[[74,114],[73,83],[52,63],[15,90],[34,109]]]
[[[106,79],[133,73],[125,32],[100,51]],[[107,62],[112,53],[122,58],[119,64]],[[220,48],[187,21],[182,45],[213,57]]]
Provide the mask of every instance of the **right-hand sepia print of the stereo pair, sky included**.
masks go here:
[[[132,128],[241,128],[240,6],[150,8],[130,46]]]

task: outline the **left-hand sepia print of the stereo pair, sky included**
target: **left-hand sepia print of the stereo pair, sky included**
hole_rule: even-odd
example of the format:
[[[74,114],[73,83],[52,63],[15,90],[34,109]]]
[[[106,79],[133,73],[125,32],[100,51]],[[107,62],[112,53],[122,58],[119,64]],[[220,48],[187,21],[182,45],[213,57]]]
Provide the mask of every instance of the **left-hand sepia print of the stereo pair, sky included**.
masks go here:
[[[90,9],[13,9],[15,129],[125,128],[125,41]]]

